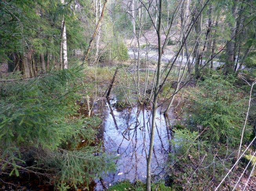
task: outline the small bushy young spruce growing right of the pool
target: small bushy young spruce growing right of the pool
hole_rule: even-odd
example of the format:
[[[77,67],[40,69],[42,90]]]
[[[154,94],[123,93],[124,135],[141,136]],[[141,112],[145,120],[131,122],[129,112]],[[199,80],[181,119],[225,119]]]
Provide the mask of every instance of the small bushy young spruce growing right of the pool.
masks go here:
[[[244,100],[234,80],[233,76],[205,77],[199,83],[200,90],[193,94],[192,121],[206,128],[202,137],[215,144],[239,141]]]

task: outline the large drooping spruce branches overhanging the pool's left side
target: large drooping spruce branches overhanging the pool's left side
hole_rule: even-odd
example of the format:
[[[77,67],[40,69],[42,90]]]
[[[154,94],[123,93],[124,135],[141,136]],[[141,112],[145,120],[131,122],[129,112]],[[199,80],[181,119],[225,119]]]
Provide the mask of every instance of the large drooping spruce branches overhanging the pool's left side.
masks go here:
[[[79,71],[81,68],[53,71],[1,84],[2,170],[11,168],[11,174],[18,176],[25,166],[45,173],[64,190],[113,168],[101,145],[95,143],[93,128],[100,120],[76,117]]]

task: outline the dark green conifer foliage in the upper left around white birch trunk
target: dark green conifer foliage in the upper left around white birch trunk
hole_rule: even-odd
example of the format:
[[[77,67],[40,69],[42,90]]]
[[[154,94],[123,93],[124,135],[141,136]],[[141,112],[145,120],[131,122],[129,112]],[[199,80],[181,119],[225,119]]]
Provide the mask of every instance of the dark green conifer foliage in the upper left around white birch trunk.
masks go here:
[[[59,54],[61,20],[65,15],[69,49],[83,49],[84,28],[72,10],[73,2],[60,0],[10,0],[0,2],[0,63],[11,52]]]

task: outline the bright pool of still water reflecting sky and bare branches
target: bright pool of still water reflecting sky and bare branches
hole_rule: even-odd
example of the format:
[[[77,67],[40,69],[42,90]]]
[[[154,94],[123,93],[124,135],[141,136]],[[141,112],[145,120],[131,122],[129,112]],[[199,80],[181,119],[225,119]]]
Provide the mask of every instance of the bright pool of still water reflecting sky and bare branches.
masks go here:
[[[118,156],[115,160],[117,171],[108,173],[98,181],[96,190],[119,180],[146,179],[146,149],[149,148],[151,130],[151,111],[142,107],[115,108],[115,99],[102,101],[95,113],[101,114],[103,123],[99,138],[103,140],[104,151],[108,155]],[[136,117],[137,115],[137,117]],[[164,117],[160,109],[156,113],[155,139],[151,170],[154,175],[163,175],[168,153],[172,151],[169,140],[172,138],[171,125],[174,122],[173,114]],[[138,119],[138,120],[137,120]],[[143,141],[144,137],[144,141]],[[154,176],[153,176],[154,177]]]

